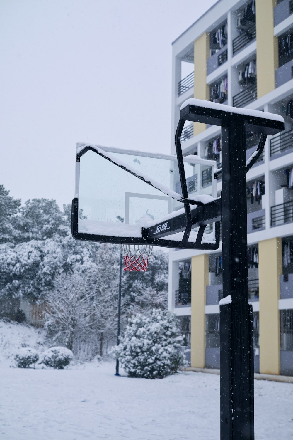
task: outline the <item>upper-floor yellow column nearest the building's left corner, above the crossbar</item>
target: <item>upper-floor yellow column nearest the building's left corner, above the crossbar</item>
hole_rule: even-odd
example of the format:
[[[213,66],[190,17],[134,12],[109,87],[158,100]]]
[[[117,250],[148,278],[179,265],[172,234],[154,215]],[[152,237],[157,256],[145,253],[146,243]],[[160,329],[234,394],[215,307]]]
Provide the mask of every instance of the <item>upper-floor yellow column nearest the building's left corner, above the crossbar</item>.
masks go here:
[[[194,98],[210,100],[207,85],[207,59],[210,56],[210,36],[205,32],[194,42]],[[193,123],[193,136],[203,132],[206,124]]]

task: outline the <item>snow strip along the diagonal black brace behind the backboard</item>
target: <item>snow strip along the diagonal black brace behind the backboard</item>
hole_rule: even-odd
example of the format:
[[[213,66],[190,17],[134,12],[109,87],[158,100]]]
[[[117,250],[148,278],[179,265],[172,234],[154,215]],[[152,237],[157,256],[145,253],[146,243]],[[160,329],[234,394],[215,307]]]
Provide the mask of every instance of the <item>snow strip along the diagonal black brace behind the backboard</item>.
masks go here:
[[[177,200],[178,202],[184,202],[185,199],[182,197],[182,195],[176,193],[175,191],[171,190],[170,188],[166,187],[162,183],[158,182],[155,179],[152,179],[150,176],[147,176],[146,174],[142,172],[138,172],[137,169],[133,168],[131,165],[125,164],[125,162],[120,161],[118,158],[112,156],[112,154],[109,154],[108,152],[102,150],[102,148],[97,147],[93,144],[86,144],[82,147],[78,147],[76,149],[76,160],[79,162],[80,158],[83,154],[86,153],[86,151],[91,150],[97,154],[99,154],[104,159],[107,159],[108,161],[114,163],[114,165],[117,165],[119,168],[124,169],[125,171],[129,172],[133,176],[136,176],[138,179],[142,180],[143,182],[147,183],[148,185],[156,188],[157,190],[163,192],[164,194],[168,195],[169,197],[172,197],[174,200]],[[211,202],[211,199],[209,196],[197,196],[194,198],[189,198],[187,201],[191,205],[204,205],[205,203]]]

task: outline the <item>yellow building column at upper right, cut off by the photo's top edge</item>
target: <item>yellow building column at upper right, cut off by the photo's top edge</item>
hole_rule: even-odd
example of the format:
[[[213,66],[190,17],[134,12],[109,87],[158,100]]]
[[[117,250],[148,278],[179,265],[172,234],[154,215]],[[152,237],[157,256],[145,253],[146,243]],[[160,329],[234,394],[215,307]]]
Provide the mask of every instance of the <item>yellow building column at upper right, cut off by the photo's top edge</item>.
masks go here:
[[[257,98],[275,88],[278,68],[278,38],[274,37],[274,7],[276,0],[256,0],[257,37]]]

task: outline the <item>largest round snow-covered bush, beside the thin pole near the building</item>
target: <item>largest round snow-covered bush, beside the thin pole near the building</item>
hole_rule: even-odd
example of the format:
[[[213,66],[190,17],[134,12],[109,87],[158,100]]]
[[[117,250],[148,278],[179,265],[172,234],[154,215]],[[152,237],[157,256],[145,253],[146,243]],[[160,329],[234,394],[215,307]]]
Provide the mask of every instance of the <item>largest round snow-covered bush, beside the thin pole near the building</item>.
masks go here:
[[[163,378],[183,365],[182,337],[170,312],[153,309],[129,319],[120,344],[112,348],[129,377]]]

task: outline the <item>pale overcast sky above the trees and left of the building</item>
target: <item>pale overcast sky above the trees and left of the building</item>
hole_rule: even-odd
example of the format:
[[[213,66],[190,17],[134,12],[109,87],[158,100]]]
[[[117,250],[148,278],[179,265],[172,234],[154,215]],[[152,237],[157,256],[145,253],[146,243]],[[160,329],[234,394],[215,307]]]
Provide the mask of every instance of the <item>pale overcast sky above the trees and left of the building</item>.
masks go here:
[[[172,41],[214,3],[0,0],[0,184],[61,206],[77,141],[169,153]]]

